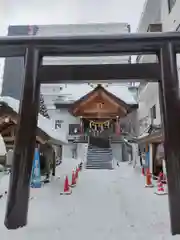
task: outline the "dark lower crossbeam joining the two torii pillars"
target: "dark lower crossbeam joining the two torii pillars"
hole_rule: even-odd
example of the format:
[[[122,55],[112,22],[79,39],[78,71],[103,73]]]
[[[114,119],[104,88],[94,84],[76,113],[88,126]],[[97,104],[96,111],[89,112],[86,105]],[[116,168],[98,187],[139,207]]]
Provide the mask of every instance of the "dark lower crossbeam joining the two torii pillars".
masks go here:
[[[87,82],[118,80],[140,82],[161,78],[158,63],[100,64],[100,65],[43,65],[38,72],[41,83]]]

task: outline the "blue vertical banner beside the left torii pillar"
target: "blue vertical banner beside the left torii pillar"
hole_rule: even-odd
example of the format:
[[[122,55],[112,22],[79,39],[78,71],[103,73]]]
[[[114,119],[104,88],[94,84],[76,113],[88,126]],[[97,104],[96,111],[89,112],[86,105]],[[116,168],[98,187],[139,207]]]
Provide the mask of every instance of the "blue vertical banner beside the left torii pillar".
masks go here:
[[[41,187],[41,169],[40,169],[40,158],[39,149],[35,149],[34,161],[31,173],[31,187],[40,188]]]

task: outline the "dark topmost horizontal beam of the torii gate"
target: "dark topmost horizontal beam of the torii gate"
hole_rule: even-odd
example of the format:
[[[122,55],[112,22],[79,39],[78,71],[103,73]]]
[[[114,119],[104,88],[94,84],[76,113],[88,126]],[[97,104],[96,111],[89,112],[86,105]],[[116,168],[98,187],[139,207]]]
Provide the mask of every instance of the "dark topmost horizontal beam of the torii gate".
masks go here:
[[[0,57],[23,56],[30,45],[38,48],[42,56],[156,54],[168,42],[180,52],[179,32],[76,37],[8,36],[0,38]]]

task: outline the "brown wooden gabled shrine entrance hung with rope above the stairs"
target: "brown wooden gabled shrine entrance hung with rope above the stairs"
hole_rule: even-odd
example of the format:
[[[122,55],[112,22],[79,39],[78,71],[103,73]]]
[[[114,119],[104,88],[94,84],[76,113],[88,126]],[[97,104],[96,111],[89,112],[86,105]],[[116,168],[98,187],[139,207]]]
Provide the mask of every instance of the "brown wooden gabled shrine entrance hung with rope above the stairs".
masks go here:
[[[121,119],[135,110],[137,104],[127,104],[98,84],[91,92],[77,100],[69,110],[80,117],[80,132],[88,136],[120,136]]]

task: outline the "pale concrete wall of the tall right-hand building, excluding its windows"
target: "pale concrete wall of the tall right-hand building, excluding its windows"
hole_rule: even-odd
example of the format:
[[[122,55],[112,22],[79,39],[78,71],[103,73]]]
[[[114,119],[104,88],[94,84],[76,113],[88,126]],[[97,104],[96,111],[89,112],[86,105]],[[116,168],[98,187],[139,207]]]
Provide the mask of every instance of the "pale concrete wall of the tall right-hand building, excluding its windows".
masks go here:
[[[153,2],[157,2],[156,5]],[[157,23],[157,7],[159,8],[159,3],[161,4],[161,14],[158,22],[161,21],[163,31],[176,31],[177,27],[180,24],[180,0],[176,0],[174,7],[169,13],[168,0],[148,0],[146,2],[146,7],[142,13],[142,18],[139,23],[139,32],[147,31],[147,26],[151,23]],[[151,7],[148,7],[150,6]],[[179,29],[180,31],[180,29]],[[152,58],[152,57],[151,57]],[[152,59],[148,59],[151,62]],[[155,59],[154,59],[155,60]],[[145,61],[144,58],[141,60]],[[147,62],[147,59],[146,59]],[[177,66],[178,66],[178,75],[180,79],[180,55],[177,55]],[[139,120],[139,132],[142,133],[148,124],[150,124],[150,108],[153,105],[156,105],[156,119],[154,124],[159,125],[161,123],[161,114],[160,114],[160,103],[159,103],[159,89],[157,83],[148,83],[141,87],[139,91],[139,109],[138,109],[138,120]],[[144,123],[143,123],[144,122]]]

